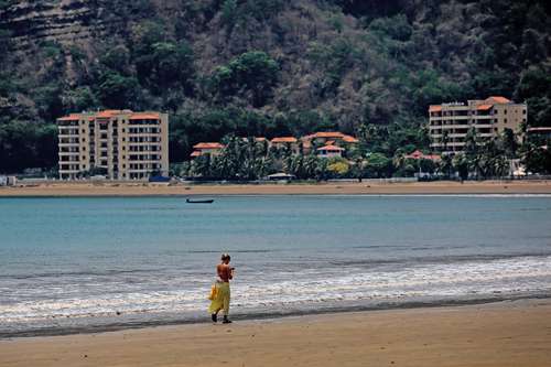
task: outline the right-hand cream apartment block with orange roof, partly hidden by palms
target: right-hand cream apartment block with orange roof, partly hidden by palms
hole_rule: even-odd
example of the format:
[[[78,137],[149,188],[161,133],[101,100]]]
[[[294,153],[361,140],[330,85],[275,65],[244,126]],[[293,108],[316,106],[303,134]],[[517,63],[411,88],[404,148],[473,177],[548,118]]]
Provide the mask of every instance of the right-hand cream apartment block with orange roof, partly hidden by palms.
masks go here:
[[[431,148],[442,153],[462,152],[471,128],[480,140],[489,140],[511,129],[517,132],[527,122],[527,105],[505,97],[468,100],[429,107]]]

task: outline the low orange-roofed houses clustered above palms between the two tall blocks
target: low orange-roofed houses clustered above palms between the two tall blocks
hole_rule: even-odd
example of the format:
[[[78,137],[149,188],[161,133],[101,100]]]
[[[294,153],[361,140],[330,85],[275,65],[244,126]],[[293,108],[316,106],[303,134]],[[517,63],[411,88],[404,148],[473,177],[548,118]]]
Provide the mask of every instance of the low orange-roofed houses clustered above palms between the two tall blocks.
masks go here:
[[[304,136],[300,139],[295,137],[277,137],[268,140],[262,137],[255,138],[257,142],[267,142],[269,148],[290,149],[294,154],[315,153],[321,158],[343,156],[347,149],[355,147],[358,139],[338,131],[316,132]],[[224,144],[218,142],[201,142],[193,147],[191,158],[204,154],[217,155],[224,149]]]

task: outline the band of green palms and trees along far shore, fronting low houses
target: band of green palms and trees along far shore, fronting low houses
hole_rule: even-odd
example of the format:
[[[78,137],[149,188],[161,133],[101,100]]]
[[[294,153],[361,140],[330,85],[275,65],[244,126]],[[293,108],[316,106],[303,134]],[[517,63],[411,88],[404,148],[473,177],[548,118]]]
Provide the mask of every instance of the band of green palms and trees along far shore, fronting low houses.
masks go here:
[[[475,129],[469,130],[463,153],[442,155],[441,160],[414,159],[398,148],[389,158],[387,133],[363,131],[359,143],[348,145],[343,158],[320,158],[315,151],[306,153],[299,144],[299,152],[291,144],[276,148],[253,138],[242,139],[228,136],[223,139],[225,148],[218,154],[205,154],[192,162],[175,163],[172,175],[194,180],[264,179],[270,174],[285,172],[299,180],[328,179],[382,179],[421,177],[434,179],[496,179],[508,176],[515,170],[511,159],[520,158],[529,172],[551,174],[551,153],[541,148],[541,141],[519,143],[518,136],[510,129],[497,139],[485,141]]]

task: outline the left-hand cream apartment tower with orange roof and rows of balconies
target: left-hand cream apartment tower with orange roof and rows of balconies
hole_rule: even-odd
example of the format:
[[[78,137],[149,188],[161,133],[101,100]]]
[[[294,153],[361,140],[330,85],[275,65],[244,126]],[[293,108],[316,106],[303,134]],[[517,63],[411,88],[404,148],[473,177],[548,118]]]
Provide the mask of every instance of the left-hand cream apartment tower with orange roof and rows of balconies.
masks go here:
[[[57,119],[60,179],[104,172],[111,180],[169,174],[169,117],[104,110]]]

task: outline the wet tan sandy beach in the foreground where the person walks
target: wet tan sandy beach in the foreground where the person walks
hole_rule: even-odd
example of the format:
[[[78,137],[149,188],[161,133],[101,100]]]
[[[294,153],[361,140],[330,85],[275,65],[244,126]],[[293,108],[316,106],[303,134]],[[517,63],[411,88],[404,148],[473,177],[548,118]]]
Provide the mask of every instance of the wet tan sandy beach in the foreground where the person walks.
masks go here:
[[[551,366],[551,301],[390,310],[0,342],[23,366]]]

